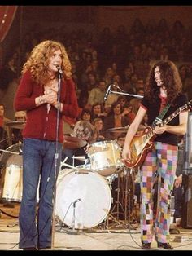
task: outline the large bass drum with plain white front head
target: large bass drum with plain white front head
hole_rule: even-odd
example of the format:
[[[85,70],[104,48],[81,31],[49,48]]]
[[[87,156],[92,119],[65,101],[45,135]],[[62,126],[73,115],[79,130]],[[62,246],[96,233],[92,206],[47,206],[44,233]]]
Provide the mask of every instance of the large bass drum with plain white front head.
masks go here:
[[[83,169],[59,174],[55,213],[68,227],[95,227],[107,217],[110,208],[111,190],[101,175]]]

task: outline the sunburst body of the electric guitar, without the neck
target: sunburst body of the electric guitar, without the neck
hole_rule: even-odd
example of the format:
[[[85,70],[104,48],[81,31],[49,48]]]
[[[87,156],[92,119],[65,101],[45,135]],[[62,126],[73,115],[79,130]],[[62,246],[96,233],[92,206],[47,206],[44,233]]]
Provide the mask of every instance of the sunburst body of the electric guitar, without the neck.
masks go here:
[[[123,159],[124,165],[128,168],[141,166],[146,157],[146,153],[150,151],[154,144],[154,139],[155,134],[150,126],[147,126],[146,129],[142,131],[142,135],[135,135],[130,144],[131,161]]]

